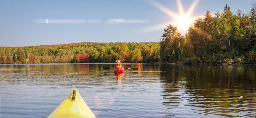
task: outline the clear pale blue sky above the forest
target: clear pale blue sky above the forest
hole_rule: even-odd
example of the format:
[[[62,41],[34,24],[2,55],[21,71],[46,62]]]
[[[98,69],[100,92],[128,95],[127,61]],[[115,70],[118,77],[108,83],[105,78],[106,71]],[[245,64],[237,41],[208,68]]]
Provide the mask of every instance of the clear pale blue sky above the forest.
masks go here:
[[[164,28],[224,10],[247,14],[255,0],[0,0],[0,46],[159,42]]]

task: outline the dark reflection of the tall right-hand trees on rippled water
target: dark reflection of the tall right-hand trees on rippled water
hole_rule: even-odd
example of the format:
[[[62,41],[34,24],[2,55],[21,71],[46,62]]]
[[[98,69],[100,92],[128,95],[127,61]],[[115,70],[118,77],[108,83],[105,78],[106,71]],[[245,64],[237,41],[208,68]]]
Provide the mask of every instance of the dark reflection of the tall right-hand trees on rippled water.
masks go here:
[[[185,106],[200,114],[255,116],[255,66],[166,64],[160,71],[163,104],[170,109]]]

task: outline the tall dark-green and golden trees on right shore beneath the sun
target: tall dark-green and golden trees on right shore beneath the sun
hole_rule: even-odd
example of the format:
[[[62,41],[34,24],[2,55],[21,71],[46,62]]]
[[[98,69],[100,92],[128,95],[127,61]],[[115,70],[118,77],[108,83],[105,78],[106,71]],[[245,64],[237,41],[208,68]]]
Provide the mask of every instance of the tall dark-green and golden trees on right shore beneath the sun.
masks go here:
[[[249,14],[233,14],[229,6],[212,16],[207,10],[185,37],[172,24],[160,39],[161,62],[256,63],[256,4]]]

